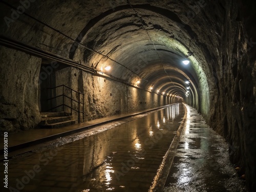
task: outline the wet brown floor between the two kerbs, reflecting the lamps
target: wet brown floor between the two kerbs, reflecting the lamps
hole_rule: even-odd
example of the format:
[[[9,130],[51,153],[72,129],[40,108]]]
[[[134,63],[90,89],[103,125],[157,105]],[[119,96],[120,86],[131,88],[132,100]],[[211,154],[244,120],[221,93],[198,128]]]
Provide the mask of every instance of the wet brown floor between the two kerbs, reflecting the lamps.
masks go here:
[[[10,159],[9,187],[148,191],[183,116],[183,104],[177,103],[102,133]]]

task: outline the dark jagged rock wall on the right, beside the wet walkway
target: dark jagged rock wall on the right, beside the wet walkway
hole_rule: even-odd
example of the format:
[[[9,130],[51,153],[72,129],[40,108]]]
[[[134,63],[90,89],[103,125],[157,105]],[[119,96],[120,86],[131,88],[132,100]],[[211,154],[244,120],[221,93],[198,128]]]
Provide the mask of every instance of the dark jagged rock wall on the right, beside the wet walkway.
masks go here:
[[[229,142],[230,160],[241,167],[239,174],[246,175],[248,189],[253,191],[256,188],[256,36],[252,26],[255,3],[248,3],[226,4],[208,123]]]

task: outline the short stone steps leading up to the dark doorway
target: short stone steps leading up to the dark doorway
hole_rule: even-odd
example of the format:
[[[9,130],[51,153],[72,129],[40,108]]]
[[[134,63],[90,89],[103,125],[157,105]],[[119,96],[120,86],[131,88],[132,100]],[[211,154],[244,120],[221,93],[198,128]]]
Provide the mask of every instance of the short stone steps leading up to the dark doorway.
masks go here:
[[[57,129],[72,124],[75,124],[73,116],[65,112],[41,112],[40,128]]]

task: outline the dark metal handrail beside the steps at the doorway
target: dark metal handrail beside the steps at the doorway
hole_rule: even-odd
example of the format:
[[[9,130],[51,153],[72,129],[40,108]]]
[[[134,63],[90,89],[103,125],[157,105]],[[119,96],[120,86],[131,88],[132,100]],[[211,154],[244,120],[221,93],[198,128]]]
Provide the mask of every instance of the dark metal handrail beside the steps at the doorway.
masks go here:
[[[60,104],[60,105],[58,105],[58,106],[55,106],[54,108],[51,108],[51,109],[48,110],[48,111],[52,111],[52,110],[54,110],[54,109],[56,109],[56,108],[59,108],[60,106],[62,106],[62,109],[63,109],[63,111],[64,111],[64,106],[66,106],[67,108],[70,108],[70,109],[71,109],[71,115],[72,115],[73,110],[76,111],[76,112],[78,112],[78,123],[80,123],[80,122],[81,122],[81,121],[80,121],[80,114],[82,114],[83,120],[84,120],[84,93],[81,93],[80,91],[75,91],[75,90],[73,90],[72,88],[69,88],[69,87],[65,86],[65,84],[62,84],[61,86],[56,86],[56,87],[53,87],[53,88],[47,88],[47,89],[52,90],[52,89],[57,89],[57,88],[59,88],[59,87],[62,87],[62,94],[61,94],[61,95],[58,95],[58,96],[55,96],[55,97],[52,97],[52,98],[49,98],[49,99],[47,99],[47,100],[56,99],[56,98],[62,96],[62,104]],[[64,93],[64,88],[68,88],[69,90],[71,90],[71,97],[65,95],[65,93]],[[75,99],[73,99],[73,94],[72,94],[73,91],[74,91],[75,93],[78,93],[78,101],[75,100]],[[83,97],[83,98],[82,98],[82,102],[81,102],[81,100],[80,100],[80,94],[81,94],[82,97]],[[65,99],[64,99],[65,97],[71,100],[71,106],[65,104]],[[76,109],[73,108],[73,101],[75,101],[75,102],[78,103],[78,110],[76,110]],[[82,106],[83,106],[82,111],[80,111],[80,105],[81,105],[81,104],[82,104]]]

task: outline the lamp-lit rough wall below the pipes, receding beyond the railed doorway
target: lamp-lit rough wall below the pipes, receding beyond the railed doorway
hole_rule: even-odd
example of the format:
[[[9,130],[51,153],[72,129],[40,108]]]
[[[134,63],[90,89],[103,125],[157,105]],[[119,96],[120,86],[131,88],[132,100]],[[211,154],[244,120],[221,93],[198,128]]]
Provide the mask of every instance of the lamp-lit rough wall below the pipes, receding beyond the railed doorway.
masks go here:
[[[76,74],[76,76],[74,75]],[[84,120],[125,114],[170,103],[170,98],[72,68],[72,88],[84,93]]]

